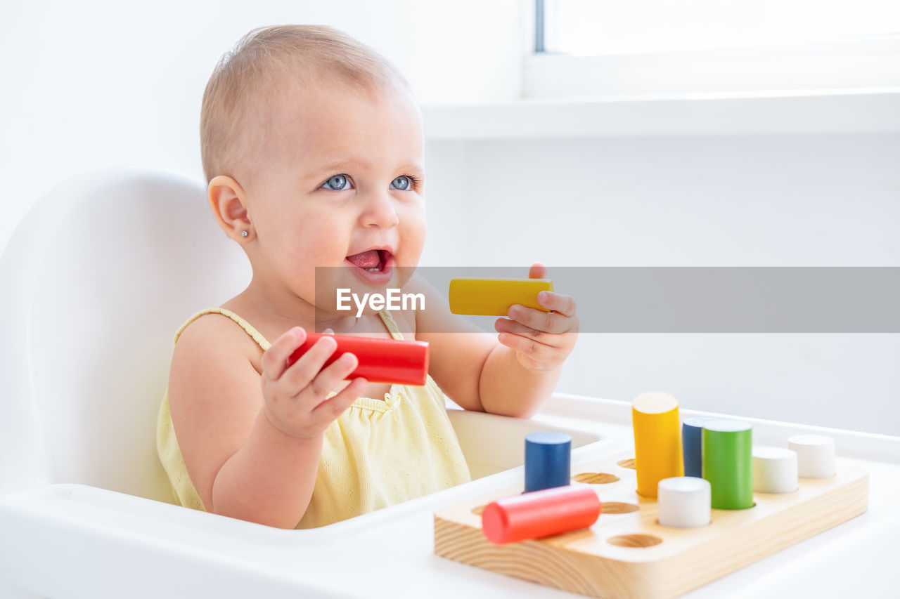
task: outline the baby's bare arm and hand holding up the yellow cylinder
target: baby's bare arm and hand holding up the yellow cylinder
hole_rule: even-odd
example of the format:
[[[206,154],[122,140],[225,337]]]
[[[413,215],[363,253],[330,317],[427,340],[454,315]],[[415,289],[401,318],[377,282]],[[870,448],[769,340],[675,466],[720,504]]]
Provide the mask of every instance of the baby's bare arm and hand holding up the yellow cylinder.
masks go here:
[[[545,266],[536,264],[529,277],[540,279],[545,273]],[[416,337],[431,344],[432,376],[447,396],[466,409],[504,416],[530,417],[545,404],[572,352],[578,317],[574,299],[542,293],[547,295],[538,302],[554,312],[511,308],[509,320],[498,319],[496,338],[452,314],[446,300],[417,313]]]

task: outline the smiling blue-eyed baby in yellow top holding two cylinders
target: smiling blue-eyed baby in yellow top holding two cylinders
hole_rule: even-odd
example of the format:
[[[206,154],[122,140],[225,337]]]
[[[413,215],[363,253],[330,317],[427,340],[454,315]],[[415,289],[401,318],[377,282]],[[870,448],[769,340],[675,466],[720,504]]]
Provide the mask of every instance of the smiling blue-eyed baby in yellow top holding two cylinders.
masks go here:
[[[212,213],[253,276],[175,336],[157,447],[179,504],[283,528],[338,522],[470,479],[443,393],[523,417],[550,397],[578,330],[568,296],[542,292],[549,313],[513,306],[497,336],[446,299],[361,317],[317,300],[317,266],[344,273],[331,288],[340,276],[390,280],[437,298],[401,268],[418,264],[425,241],[421,116],[373,49],[329,27],[250,31],[206,87],[201,147]],[[410,331],[430,344],[427,384],[347,380],[351,353],[323,368],[331,335],[288,361],[306,331],[325,327]]]

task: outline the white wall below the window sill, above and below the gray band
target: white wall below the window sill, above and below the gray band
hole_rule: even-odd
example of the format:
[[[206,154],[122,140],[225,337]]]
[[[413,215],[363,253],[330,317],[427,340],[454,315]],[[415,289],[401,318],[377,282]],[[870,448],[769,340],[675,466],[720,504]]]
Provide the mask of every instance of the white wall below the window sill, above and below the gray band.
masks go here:
[[[427,151],[426,264],[900,266],[896,135]],[[900,335],[581,335],[559,389],[897,435]]]

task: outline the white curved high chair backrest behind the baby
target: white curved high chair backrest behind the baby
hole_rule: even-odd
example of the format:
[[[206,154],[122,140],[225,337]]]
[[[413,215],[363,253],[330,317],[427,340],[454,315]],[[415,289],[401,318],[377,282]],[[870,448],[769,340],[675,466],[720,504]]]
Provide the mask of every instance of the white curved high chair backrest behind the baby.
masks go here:
[[[199,180],[118,171],[49,192],[0,259],[0,492],[170,501],[155,435],[175,331],[247,282]]]

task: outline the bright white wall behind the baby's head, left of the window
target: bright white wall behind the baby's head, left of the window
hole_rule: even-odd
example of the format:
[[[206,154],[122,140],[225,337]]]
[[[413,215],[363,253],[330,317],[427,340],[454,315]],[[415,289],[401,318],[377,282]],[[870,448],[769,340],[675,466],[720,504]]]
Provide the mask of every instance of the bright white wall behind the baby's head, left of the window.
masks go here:
[[[139,7],[138,7],[139,6]],[[112,165],[201,176],[200,102],[258,26],[324,23],[379,49],[423,103],[519,94],[521,0],[0,3],[0,249],[40,195]]]

